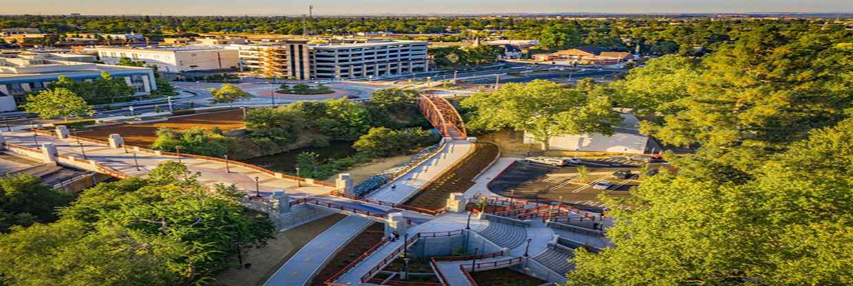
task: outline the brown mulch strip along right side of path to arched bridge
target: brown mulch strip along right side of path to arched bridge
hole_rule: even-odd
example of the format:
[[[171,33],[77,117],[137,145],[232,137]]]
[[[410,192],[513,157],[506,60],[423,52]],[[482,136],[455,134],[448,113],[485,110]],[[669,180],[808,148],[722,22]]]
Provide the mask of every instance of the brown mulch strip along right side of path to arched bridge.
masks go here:
[[[474,185],[473,178],[489,166],[498,154],[497,145],[477,143],[474,152],[464,162],[454,166],[443,178],[433,181],[406,202],[409,206],[427,209],[444,207],[451,193],[463,193]]]

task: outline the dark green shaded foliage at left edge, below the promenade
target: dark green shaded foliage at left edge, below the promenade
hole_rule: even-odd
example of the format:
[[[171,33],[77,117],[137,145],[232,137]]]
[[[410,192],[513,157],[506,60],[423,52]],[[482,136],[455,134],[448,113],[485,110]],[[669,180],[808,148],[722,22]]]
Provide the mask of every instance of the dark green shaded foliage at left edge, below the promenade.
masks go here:
[[[0,178],[0,233],[13,225],[30,226],[57,219],[56,207],[64,207],[73,196],[42,184],[27,174]]]

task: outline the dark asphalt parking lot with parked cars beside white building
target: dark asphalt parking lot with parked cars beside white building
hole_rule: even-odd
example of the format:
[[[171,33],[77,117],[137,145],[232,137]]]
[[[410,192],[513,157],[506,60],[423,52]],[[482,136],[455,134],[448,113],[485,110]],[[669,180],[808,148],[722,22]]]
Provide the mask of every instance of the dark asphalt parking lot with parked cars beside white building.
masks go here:
[[[558,201],[562,196],[563,202],[576,204],[583,208],[602,208],[603,202],[598,200],[600,194],[613,197],[629,197],[631,187],[640,184],[641,176],[636,176],[642,161],[631,161],[624,157],[608,157],[601,159],[584,159],[577,164],[568,166],[549,166],[534,162],[517,161],[491,181],[489,189],[502,196],[512,196],[527,200],[542,202]],[[649,163],[651,169],[658,168],[662,163]],[[579,168],[586,168],[583,176]],[[613,172],[630,171],[632,178],[613,178]],[[595,188],[597,183],[609,183],[608,190]],[[619,207],[619,206],[613,206]]]

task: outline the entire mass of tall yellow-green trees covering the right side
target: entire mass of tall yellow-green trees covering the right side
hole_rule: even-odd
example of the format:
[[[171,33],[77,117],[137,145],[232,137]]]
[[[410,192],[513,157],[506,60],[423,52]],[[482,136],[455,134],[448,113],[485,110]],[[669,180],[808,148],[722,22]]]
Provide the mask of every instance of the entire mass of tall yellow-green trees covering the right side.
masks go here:
[[[570,285],[853,283],[853,32],[796,23],[665,56],[592,87],[641,115],[676,172],[613,200],[615,248],[576,251]]]

